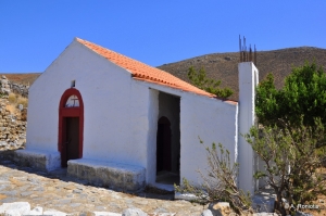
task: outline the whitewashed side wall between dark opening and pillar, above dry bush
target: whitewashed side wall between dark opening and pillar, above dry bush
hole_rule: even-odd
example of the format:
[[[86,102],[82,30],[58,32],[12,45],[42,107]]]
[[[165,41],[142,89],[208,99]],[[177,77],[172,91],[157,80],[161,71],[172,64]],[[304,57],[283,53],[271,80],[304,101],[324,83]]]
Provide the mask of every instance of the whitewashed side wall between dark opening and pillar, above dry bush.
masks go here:
[[[231,162],[238,152],[238,106],[215,99],[198,96],[181,98],[181,157],[180,175],[193,182],[201,182],[195,170],[208,168],[205,147],[222,143],[229,152]],[[218,145],[217,145],[218,147]]]

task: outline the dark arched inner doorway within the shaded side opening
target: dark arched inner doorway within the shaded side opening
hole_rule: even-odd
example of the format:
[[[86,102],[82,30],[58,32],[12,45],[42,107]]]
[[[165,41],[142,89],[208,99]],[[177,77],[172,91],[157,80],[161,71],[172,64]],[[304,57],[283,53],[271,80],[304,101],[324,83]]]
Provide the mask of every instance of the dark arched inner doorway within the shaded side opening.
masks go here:
[[[171,123],[163,116],[158,122],[156,173],[171,171]]]

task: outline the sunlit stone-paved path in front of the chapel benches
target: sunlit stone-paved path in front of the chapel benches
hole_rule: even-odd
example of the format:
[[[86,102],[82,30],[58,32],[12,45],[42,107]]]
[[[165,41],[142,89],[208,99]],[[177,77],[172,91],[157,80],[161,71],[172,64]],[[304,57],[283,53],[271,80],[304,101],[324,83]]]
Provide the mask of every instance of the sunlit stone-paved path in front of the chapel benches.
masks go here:
[[[138,195],[87,186],[85,181],[67,178],[64,171],[40,173],[28,167],[18,167],[0,157],[0,205],[11,202],[29,202],[32,208],[40,205],[65,213],[103,211],[122,213],[137,207],[150,213],[177,213],[177,216],[199,216],[203,206],[187,201],[149,199]],[[151,194],[153,195],[153,194]],[[147,198],[145,198],[147,196]],[[171,198],[170,195],[161,195]]]

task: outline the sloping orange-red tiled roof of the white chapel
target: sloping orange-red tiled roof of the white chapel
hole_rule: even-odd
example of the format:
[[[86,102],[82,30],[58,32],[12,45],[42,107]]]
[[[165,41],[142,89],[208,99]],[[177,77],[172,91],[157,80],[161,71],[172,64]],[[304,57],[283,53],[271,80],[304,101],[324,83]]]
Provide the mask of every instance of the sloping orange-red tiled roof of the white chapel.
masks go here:
[[[113,62],[114,64],[129,71],[133,74],[133,77],[137,80],[143,80],[149,82],[155,82],[162,86],[168,86],[175,89],[180,89],[184,91],[190,91],[197,94],[206,96],[210,98],[215,98],[214,94],[203,91],[175,76],[172,74],[164,72],[162,69],[149,66],[139,61],[127,58],[117,52],[111,51],[101,46],[95,45],[92,42],[76,38],[76,41],[86,46],[90,50],[97,52],[102,55],[106,60]],[[230,101],[231,102],[231,101]]]

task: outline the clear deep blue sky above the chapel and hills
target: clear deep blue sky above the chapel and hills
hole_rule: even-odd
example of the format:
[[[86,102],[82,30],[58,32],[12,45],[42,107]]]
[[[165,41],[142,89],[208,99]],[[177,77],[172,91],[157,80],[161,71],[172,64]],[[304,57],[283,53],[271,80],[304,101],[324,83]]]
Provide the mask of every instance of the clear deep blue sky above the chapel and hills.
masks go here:
[[[43,72],[79,37],[152,66],[238,51],[326,49],[325,0],[0,0],[0,73]]]

